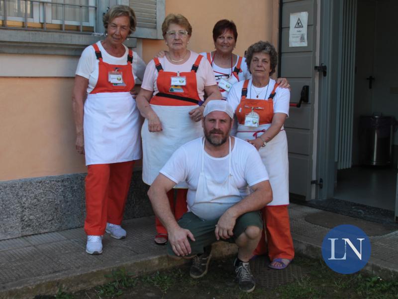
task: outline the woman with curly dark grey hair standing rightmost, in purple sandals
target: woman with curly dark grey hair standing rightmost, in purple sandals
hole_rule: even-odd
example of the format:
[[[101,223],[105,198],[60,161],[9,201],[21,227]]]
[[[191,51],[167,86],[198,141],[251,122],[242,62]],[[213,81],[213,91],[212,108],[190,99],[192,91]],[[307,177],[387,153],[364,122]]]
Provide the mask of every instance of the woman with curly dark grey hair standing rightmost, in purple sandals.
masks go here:
[[[260,153],[266,166],[273,200],[262,210],[272,269],[284,269],[294,258],[290,233],[288,143],[284,123],[289,116],[289,89],[282,89],[270,75],[275,73],[278,54],[272,44],[259,41],[246,54],[252,79],[235,84],[227,101],[238,121],[236,137],[247,140]],[[266,252],[265,235],[255,255]]]

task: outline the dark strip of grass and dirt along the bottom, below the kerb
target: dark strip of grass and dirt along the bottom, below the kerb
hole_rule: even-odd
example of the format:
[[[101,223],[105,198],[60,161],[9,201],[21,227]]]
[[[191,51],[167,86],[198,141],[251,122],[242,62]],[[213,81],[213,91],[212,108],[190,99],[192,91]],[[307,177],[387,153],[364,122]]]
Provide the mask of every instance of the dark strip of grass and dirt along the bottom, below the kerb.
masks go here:
[[[266,289],[259,284],[250,293],[242,293],[234,283],[233,258],[213,260],[208,274],[194,280],[189,276],[190,265],[157,271],[133,278],[125,269],[112,272],[112,282],[88,291],[81,291],[56,299],[398,299],[398,282],[385,281],[376,276],[342,275],[330,270],[323,260],[303,256],[295,258],[303,277],[292,283]],[[267,271],[264,275],[279,275]],[[54,297],[53,297],[54,298]]]

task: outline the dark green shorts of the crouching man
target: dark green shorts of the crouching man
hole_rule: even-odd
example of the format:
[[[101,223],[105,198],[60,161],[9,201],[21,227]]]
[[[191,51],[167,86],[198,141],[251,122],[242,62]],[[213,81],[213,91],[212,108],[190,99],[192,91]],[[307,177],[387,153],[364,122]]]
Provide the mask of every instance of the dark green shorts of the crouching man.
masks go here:
[[[214,220],[203,220],[194,213],[188,212],[185,213],[180,220],[178,220],[178,224],[182,228],[190,230],[195,237],[195,242],[188,238],[192,250],[191,255],[203,253],[204,247],[217,241],[214,230],[218,219],[219,218]],[[235,227],[233,228],[233,236],[227,240],[221,238],[220,240],[234,243],[235,239],[238,238],[248,226],[257,226],[260,229],[263,229],[263,220],[261,219],[261,214],[259,211],[248,212],[240,216],[238,219],[236,219]],[[167,245],[167,253],[168,255],[176,256],[171,248],[170,242]]]

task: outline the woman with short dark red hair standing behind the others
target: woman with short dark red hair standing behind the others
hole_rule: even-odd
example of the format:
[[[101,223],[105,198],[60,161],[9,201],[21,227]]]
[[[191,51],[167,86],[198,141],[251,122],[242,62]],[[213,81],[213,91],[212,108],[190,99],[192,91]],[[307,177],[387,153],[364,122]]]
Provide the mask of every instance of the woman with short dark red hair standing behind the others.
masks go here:
[[[232,53],[236,46],[237,38],[238,31],[235,23],[227,19],[219,20],[213,27],[215,51],[200,53],[210,62],[224,100],[235,83],[252,77],[247,68],[246,59]],[[289,87],[289,83],[285,78],[280,78],[277,81],[281,83],[280,87]]]

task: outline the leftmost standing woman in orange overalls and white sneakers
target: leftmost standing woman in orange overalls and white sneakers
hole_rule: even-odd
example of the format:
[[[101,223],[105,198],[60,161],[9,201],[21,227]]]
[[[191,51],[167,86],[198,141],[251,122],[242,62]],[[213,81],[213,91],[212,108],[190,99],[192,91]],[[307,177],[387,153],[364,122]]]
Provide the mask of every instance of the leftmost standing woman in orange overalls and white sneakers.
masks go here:
[[[73,89],[76,149],[85,154],[86,252],[102,253],[102,235],[126,237],[120,224],[134,160],[141,158],[141,121],[130,94],[137,60],[123,41],[134,32],[134,11],[111,7],[103,16],[106,37],[87,47],[79,60]],[[135,58],[134,58],[135,57]]]

